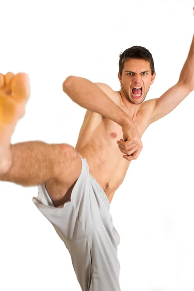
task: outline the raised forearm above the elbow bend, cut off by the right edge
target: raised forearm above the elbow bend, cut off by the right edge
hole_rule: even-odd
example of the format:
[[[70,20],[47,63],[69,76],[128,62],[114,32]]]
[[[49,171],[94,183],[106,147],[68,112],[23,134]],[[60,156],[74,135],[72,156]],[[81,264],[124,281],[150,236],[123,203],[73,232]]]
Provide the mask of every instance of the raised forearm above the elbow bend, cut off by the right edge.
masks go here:
[[[194,90],[194,36],[186,62],[181,70],[179,82]]]

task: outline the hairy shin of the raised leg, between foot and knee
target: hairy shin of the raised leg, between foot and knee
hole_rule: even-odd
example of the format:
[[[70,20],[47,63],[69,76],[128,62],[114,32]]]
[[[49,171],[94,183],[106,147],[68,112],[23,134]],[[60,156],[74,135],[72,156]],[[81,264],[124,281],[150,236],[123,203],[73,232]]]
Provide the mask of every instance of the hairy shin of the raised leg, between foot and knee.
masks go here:
[[[12,163],[1,181],[9,181],[23,186],[35,186],[56,177],[60,145],[50,145],[30,141],[10,145]]]

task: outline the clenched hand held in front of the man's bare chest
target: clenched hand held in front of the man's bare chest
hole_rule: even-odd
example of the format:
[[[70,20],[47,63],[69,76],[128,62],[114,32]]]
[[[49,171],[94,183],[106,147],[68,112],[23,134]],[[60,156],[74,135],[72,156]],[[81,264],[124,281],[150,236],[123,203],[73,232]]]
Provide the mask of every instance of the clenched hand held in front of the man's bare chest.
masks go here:
[[[140,135],[136,128],[129,125],[124,125],[122,130],[123,140],[120,139],[120,141],[117,141],[117,144],[120,151],[125,154],[123,158],[129,162],[136,160],[143,148]]]

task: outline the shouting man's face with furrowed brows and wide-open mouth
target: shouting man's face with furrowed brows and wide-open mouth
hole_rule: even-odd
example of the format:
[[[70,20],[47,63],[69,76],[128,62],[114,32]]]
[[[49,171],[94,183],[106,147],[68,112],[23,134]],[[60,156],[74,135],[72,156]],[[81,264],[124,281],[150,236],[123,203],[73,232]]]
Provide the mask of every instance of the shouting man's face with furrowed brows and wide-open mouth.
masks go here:
[[[149,62],[139,59],[125,61],[122,76],[118,78],[122,84],[121,92],[133,104],[141,104],[153,84],[156,73],[152,76]],[[135,88],[136,87],[136,88]]]

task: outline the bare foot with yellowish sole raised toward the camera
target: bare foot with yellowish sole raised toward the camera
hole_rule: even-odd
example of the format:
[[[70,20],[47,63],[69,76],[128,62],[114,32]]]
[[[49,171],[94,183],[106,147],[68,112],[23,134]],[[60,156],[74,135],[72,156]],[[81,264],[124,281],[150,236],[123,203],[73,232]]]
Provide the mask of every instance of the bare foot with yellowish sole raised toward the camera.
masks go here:
[[[25,73],[0,74],[0,173],[11,163],[10,141],[16,123],[25,114],[30,84]]]

